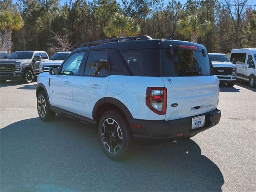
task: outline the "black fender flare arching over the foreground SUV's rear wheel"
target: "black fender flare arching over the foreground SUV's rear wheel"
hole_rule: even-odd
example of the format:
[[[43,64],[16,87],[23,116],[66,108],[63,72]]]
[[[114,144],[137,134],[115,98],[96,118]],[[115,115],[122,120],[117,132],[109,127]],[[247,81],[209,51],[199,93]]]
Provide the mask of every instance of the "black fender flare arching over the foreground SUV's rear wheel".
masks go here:
[[[92,110],[92,118],[94,120],[96,119],[96,113],[102,104],[113,104],[113,105],[117,106],[118,108],[120,108],[122,110],[122,112],[124,112],[126,117],[133,118],[133,116],[130,113],[130,111],[128,110],[128,108],[120,100],[117,100],[116,98],[112,98],[112,97],[104,97],[104,98],[101,98],[100,100],[98,100],[96,102],[96,104],[94,105],[94,108]]]

